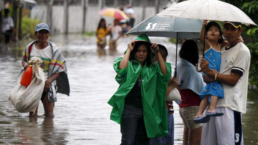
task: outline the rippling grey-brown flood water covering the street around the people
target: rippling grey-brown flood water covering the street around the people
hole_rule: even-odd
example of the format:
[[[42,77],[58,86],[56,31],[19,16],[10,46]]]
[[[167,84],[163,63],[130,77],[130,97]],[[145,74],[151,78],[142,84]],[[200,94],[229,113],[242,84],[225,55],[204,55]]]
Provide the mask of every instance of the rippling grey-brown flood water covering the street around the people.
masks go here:
[[[36,145],[118,145],[120,125],[109,120],[111,106],[107,101],[118,88],[113,61],[123,56],[131,37],[119,41],[117,52],[96,52],[96,38],[82,35],[55,35],[49,38],[64,54],[67,61],[70,96],[57,94],[54,118],[47,118],[42,103],[38,119],[29,120],[7,100],[22,69],[21,55],[29,43],[19,46],[0,46],[0,144]],[[150,37],[152,42],[168,48],[167,62],[175,64],[175,45],[168,38]],[[172,66],[174,68],[174,66]],[[242,115],[244,142],[258,144],[257,91],[249,91],[247,113]],[[176,145],[182,144],[183,123],[178,105],[174,103]]]

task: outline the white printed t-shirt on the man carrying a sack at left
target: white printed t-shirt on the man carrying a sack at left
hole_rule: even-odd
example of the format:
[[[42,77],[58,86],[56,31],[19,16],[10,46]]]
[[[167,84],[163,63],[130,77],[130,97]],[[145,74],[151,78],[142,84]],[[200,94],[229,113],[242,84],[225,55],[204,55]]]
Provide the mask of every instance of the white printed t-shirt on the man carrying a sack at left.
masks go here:
[[[30,52],[30,59],[31,59],[31,57],[34,57],[34,56],[39,57],[43,61],[41,68],[43,69],[45,79],[47,80],[49,65],[50,65],[51,59],[53,57],[53,50],[52,50],[50,44],[48,44],[48,46],[45,47],[44,49],[37,49],[35,47],[35,43],[34,43],[32,45],[32,49]]]

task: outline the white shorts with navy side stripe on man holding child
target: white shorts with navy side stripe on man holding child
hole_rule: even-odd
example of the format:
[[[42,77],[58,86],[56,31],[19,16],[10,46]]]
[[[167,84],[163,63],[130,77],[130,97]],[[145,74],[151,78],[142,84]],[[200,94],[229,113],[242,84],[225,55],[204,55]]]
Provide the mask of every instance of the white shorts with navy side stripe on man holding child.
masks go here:
[[[224,115],[211,117],[203,124],[201,144],[243,145],[241,113],[227,107],[217,107],[216,110]]]

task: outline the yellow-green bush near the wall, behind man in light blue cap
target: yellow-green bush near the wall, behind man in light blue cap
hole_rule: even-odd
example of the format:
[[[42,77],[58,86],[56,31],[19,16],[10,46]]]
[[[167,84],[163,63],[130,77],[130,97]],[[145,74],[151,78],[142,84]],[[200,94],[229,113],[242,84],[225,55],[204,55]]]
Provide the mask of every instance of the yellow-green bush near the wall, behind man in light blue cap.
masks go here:
[[[24,16],[21,21],[21,30],[22,30],[22,37],[23,38],[33,38],[35,27],[37,24],[40,23],[38,19],[31,19],[28,16]]]

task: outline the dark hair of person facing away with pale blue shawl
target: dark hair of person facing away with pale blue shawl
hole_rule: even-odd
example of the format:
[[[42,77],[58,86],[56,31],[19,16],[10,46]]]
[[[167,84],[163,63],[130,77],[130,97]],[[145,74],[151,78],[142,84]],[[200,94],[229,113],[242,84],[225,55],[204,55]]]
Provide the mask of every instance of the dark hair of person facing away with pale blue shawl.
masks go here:
[[[179,56],[180,58],[186,59],[195,66],[199,59],[198,46],[196,42],[191,39],[186,40],[181,46]]]

